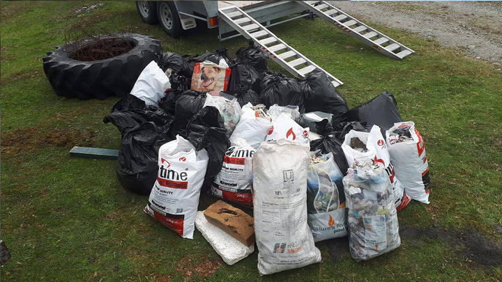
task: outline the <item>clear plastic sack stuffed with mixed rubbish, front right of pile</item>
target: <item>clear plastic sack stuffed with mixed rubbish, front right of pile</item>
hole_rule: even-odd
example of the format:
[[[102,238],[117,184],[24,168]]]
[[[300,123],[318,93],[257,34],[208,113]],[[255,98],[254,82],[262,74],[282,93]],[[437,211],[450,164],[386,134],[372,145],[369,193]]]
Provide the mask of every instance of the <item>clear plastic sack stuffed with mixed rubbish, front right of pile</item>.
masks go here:
[[[400,246],[392,185],[385,170],[369,159],[349,169],[343,184],[352,258],[369,260]]]

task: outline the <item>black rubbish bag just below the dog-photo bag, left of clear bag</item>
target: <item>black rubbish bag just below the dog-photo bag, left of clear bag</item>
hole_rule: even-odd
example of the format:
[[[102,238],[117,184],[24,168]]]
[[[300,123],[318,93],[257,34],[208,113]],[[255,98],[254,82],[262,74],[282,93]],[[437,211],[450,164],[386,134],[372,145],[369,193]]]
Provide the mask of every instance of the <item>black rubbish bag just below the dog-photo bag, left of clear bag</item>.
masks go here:
[[[186,137],[186,125],[197,111],[204,107],[206,93],[195,90],[187,90],[179,95],[176,100],[174,120],[171,128],[171,135],[177,134]]]

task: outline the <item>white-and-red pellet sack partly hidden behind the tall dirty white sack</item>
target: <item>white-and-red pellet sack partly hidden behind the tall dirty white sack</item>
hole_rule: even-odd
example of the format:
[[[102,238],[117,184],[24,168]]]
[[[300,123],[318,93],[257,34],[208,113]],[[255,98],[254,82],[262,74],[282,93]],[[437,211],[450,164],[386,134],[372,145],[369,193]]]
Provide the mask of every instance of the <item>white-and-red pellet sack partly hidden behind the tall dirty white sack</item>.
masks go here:
[[[225,152],[220,173],[216,175],[211,192],[225,201],[252,207],[250,171],[254,148],[238,138]]]

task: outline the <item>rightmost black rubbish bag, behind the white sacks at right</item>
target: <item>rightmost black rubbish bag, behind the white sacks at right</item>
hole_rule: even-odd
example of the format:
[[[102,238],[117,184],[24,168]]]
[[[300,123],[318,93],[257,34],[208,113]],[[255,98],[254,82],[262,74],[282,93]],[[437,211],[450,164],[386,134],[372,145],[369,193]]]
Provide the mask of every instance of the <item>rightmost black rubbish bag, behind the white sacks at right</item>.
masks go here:
[[[386,130],[394,126],[394,123],[402,121],[396,106],[397,102],[394,95],[386,91],[372,100],[347,111],[344,114],[344,120],[365,122],[369,127],[378,125],[385,134]]]

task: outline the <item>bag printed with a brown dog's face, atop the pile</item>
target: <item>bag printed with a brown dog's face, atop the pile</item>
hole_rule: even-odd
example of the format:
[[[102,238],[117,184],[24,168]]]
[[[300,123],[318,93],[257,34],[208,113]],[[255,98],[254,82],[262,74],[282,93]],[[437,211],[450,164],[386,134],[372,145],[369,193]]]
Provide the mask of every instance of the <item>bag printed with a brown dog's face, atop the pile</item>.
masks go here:
[[[231,70],[224,61],[220,65],[210,61],[196,63],[192,75],[192,90],[201,92],[226,91]]]

